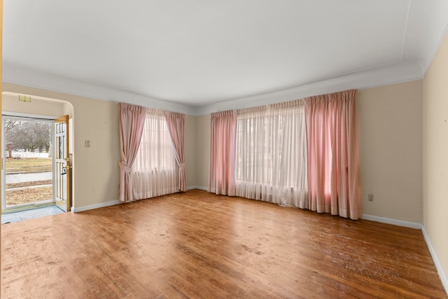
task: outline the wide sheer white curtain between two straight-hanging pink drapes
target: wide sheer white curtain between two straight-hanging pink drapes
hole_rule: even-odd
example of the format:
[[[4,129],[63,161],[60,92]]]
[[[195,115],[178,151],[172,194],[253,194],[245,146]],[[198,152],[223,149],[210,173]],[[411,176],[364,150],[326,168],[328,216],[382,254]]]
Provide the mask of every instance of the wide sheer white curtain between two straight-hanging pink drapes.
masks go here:
[[[308,208],[304,101],[238,111],[237,196]]]

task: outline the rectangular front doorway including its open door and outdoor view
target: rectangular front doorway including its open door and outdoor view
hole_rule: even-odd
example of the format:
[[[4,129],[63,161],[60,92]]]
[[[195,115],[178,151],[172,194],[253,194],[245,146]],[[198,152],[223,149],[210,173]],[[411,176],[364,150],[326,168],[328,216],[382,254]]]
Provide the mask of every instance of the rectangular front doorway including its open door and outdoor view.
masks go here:
[[[3,115],[2,218],[70,210],[68,126],[68,116]]]

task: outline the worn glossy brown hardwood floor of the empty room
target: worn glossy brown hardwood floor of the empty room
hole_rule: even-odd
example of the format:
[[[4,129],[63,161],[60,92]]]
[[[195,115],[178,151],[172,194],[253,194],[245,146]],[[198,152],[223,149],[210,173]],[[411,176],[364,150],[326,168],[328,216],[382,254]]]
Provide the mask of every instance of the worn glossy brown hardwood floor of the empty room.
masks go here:
[[[447,298],[420,230],[201,190],[1,232],[1,298]]]

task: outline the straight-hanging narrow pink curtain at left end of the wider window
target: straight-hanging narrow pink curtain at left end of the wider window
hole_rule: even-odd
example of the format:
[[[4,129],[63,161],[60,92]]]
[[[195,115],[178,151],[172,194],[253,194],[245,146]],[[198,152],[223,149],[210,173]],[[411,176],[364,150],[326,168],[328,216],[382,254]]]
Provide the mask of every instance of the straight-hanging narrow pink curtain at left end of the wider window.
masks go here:
[[[235,196],[237,111],[211,113],[209,192]]]

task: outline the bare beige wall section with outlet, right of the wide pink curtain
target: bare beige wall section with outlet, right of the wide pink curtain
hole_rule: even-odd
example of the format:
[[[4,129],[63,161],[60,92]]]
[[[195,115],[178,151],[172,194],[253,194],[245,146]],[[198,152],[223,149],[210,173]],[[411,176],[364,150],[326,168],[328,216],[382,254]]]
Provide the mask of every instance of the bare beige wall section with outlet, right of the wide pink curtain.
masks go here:
[[[363,214],[422,223],[422,81],[358,90],[357,100]]]

